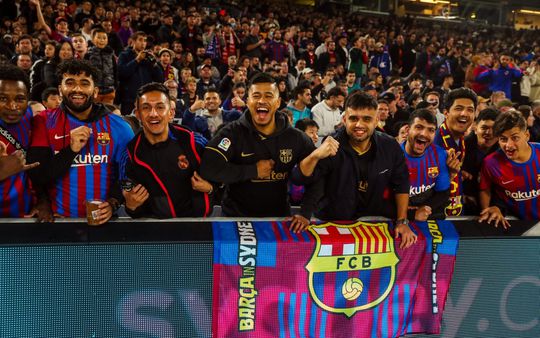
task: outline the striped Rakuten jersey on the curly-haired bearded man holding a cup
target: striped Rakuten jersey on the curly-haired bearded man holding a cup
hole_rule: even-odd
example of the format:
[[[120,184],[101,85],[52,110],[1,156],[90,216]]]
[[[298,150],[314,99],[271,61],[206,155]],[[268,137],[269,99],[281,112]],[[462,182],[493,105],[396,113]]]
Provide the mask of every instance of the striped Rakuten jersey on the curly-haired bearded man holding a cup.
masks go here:
[[[46,110],[34,118],[32,147],[50,147],[56,154],[70,146],[70,131],[92,129],[86,146],[75,156],[69,171],[49,189],[52,209],[64,217],[85,217],[85,200],[105,200],[119,176],[133,131],[121,117],[106,114],[83,122],[61,108]]]

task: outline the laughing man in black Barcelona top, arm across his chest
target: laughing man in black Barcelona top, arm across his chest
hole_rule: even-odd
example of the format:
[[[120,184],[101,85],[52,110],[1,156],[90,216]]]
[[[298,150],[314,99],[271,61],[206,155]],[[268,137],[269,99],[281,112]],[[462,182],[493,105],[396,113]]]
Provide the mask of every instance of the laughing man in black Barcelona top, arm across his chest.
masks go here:
[[[248,111],[222,128],[208,143],[201,176],[225,184],[222,210],[232,217],[285,217],[291,213],[287,186],[293,167],[315,146],[277,112],[275,80],[255,75],[248,92]],[[304,200],[309,199],[309,189]],[[293,215],[291,229],[304,230],[311,212]]]

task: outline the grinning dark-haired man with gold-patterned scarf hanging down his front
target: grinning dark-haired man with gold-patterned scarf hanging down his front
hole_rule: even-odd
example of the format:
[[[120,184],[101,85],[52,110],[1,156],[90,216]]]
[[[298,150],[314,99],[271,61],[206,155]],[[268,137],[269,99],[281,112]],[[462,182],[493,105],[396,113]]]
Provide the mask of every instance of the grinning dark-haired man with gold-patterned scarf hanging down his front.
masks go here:
[[[469,88],[454,89],[446,96],[446,121],[437,131],[435,144],[448,152],[452,162],[457,158],[461,164],[466,156],[465,133],[473,123],[477,101],[476,94]],[[463,213],[463,174],[458,167],[451,169],[451,179],[450,205],[446,207],[446,216],[460,216]]]

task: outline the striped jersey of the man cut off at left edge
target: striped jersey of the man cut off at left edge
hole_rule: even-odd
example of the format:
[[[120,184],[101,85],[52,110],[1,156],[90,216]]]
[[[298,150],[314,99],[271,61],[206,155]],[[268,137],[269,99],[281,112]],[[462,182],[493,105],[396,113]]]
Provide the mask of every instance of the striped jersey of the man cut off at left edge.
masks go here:
[[[30,144],[30,130],[32,126],[32,109],[28,107],[21,121],[16,124],[8,124],[0,120],[0,125],[15,137],[24,150],[28,150]],[[7,154],[10,155],[17,149],[4,136],[0,135],[0,142],[7,145]],[[12,175],[0,181],[0,196],[2,205],[0,217],[22,217],[30,212],[32,204],[32,189],[26,171]]]

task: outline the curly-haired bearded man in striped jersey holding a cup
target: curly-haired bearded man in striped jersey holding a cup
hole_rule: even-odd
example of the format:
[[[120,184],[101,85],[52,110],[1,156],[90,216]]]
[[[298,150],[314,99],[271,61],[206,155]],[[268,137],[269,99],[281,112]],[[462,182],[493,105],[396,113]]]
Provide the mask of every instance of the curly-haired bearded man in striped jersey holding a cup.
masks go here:
[[[86,60],[58,66],[62,104],[34,118],[29,159],[41,166],[31,172],[33,182],[47,187],[53,212],[62,217],[85,217],[85,200],[99,199],[100,223],[118,205],[119,164],[127,156],[133,131],[102,104],[95,79],[99,70]]]

